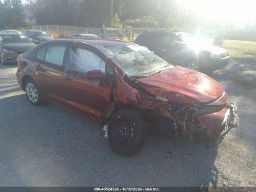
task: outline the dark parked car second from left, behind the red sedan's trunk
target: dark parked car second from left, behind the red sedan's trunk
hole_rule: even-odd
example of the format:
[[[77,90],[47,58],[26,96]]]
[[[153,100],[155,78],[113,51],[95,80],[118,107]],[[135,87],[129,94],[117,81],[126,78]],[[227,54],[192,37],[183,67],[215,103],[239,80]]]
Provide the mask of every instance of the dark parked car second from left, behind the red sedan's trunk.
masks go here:
[[[29,30],[29,31],[24,31],[23,34],[28,38],[30,38],[30,40],[35,44],[39,44],[41,42],[48,41],[48,40],[54,40],[52,36],[50,36],[44,31]]]

